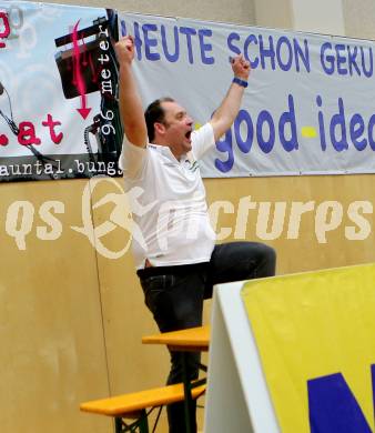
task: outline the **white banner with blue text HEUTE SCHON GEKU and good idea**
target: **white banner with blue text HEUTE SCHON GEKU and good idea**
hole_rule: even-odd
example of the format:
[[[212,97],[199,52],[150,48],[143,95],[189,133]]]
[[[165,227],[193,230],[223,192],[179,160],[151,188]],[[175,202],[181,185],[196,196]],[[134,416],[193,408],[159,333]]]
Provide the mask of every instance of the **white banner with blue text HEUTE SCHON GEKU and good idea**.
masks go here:
[[[216,177],[375,172],[372,41],[180,18],[120,13],[136,42],[134,70],[146,107],[171,95],[196,127],[232,81],[231,57],[252,72],[231,130],[202,161]]]

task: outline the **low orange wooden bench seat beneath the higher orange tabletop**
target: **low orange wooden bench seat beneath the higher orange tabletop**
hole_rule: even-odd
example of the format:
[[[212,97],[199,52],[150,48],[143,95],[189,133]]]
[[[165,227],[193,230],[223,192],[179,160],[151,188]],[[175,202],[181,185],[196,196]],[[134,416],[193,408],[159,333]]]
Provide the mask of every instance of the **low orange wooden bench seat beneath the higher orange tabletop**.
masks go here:
[[[193,399],[197,399],[205,392],[205,384],[192,387]],[[182,383],[154,387],[151,390],[118,395],[108,399],[94,400],[82,403],[83,412],[98,413],[113,416],[115,432],[149,433],[148,409],[160,407],[165,404],[176,403],[184,400],[184,386]],[[128,424],[124,420],[135,420]]]

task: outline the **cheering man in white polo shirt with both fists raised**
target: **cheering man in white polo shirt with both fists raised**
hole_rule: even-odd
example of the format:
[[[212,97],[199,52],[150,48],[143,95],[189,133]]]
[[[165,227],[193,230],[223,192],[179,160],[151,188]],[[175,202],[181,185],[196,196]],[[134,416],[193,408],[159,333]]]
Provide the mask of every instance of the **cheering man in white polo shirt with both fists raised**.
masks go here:
[[[215,245],[199,169],[199,160],[237,115],[250,63],[242,56],[233,59],[234,78],[226,95],[212,119],[193,131],[192,118],[171,98],[152,102],[143,113],[132,73],[132,37],[116,43],[116,56],[125,133],[119,163],[125,189],[143,191],[133,208],[143,241],[133,239],[133,254],[145,304],[161,332],[200,326],[203,300],[212,296],[214,284],[275,273],[275,252],[270,246],[255,242]],[[138,213],[140,205],[149,211]],[[200,356],[186,353],[186,358],[190,377],[196,379]],[[178,352],[171,353],[171,364],[168,383],[182,382]],[[168,417],[170,433],[185,431],[182,403],[170,405]],[[190,424],[195,432],[195,405]]]

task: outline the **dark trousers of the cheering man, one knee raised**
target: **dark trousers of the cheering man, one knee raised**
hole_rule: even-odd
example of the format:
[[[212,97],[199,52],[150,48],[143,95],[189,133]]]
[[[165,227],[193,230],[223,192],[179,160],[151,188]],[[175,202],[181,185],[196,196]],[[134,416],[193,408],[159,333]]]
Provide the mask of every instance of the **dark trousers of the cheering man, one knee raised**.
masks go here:
[[[275,251],[256,242],[231,242],[216,245],[209,263],[148,268],[139,271],[145,304],[161,332],[202,325],[203,301],[212,296],[214,284],[272,276]],[[197,379],[200,354],[185,353],[188,374]],[[181,352],[171,352],[168,384],[182,382]],[[195,402],[191,411],[192,431],[196,432]],[[184,405],[168,406],[170,433],[185,432]]]

